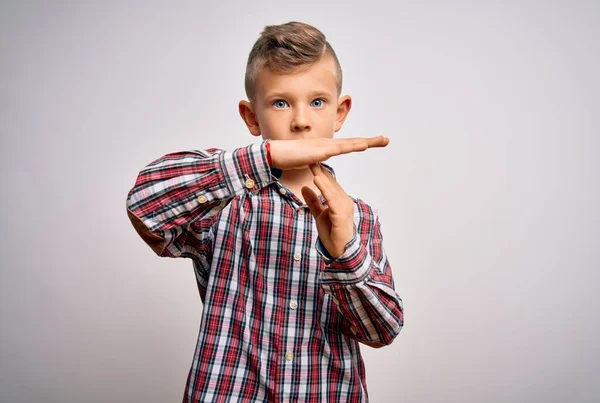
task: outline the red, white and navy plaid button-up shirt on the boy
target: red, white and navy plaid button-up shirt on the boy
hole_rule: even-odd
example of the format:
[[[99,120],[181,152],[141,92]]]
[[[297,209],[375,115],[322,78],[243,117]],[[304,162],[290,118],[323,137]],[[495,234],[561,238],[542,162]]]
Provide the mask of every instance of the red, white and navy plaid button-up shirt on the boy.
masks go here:
[[[367,402],[359,342],[388,345],[404,324],[376,212],[352,198],[354,238],[331,259],[280,177],[265,141],[182,151],[127,196],[152,250],[193,262],[203,312],[183,402]]]

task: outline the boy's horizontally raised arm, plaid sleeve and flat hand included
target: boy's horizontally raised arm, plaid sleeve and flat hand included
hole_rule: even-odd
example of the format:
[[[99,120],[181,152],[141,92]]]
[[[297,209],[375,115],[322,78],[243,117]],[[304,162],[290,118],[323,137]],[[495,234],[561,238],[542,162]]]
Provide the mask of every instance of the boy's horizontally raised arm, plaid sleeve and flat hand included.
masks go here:
[[[266,140],[232,152],[210,148],[167,154],[139,173],[127,195],[127,215],[157,255],[191,257],[194,248],[209,249],[203,242],[210,235],[205,221],[235,196],[257,192],[279,179],[271,168],[300,168],[388,143],[383,136]],[[199,228],[192,229],[196,222]]]

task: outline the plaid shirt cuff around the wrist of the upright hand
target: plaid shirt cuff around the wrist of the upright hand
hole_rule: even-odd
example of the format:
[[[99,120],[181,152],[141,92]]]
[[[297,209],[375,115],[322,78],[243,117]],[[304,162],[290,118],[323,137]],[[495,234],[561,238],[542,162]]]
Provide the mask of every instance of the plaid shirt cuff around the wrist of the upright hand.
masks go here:
[[[338,258],[333,258],[328,252],[321,239],[317,237],[315,245],[317,252],[325,262],[325,269],[321,272],[321,282],[355,284],[363,281],[371,268],[371,258],[366,248],[360,242],[360,237],[354,226],[354,236],[346,244],[344,253]]]

